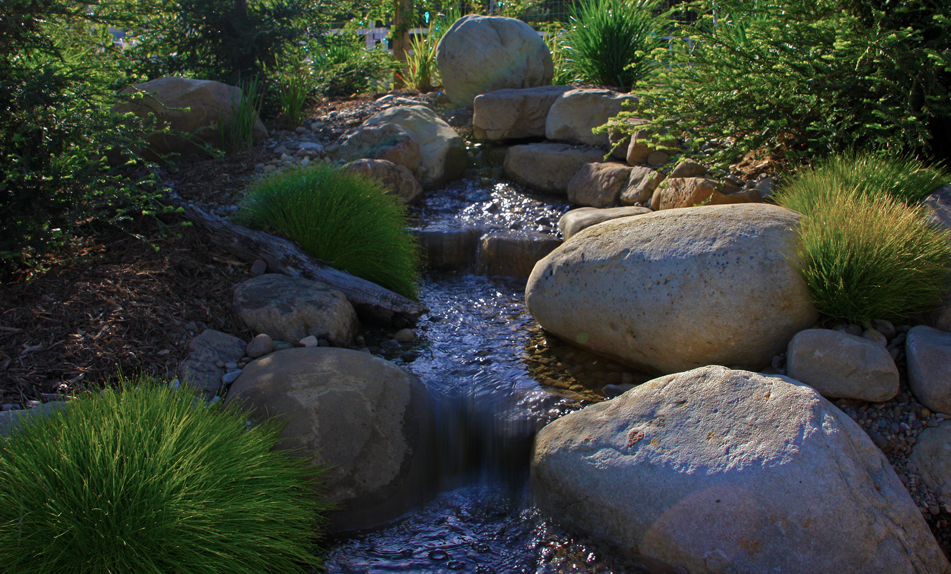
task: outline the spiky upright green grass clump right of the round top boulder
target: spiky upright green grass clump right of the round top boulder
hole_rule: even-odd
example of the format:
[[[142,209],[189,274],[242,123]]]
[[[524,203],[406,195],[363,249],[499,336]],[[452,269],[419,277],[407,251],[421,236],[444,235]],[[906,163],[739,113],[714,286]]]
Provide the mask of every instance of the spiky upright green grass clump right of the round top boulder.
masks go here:
[[[631,89],[655,63],[651,51],[666,46],[657,0],[583,0],[572,5],[565,59],[575,79]]]

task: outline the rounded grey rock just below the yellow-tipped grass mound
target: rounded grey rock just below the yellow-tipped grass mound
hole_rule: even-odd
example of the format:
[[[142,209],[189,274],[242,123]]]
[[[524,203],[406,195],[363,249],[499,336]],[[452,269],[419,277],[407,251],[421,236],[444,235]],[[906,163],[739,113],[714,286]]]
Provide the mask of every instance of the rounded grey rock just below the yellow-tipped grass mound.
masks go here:
[[[883,345],[828,329],[806,329],[792,337],[786,373],[834,398],[881,403],[899,391],[898,367]]]

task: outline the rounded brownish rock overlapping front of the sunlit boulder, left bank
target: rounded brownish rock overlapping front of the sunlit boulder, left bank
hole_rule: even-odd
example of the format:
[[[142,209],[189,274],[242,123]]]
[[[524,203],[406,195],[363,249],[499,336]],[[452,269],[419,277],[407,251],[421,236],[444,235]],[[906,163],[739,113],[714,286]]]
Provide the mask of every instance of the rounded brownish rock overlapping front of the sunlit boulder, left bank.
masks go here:
[[[385,160],[402,165],[416,176],[422,162],[419,143],[398,124],[359,125],[337,141],[335,157],[343,162]]]

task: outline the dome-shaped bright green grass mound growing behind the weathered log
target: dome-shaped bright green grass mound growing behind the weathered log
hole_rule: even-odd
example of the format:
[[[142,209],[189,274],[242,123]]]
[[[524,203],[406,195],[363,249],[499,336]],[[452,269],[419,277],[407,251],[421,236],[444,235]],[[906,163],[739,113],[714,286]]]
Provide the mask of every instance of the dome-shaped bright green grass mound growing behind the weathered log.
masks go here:
[[[337,269],[416,298],[416,240],[378,182],[326,164],[279,173],[251,186],[235,221],[286,234]]]

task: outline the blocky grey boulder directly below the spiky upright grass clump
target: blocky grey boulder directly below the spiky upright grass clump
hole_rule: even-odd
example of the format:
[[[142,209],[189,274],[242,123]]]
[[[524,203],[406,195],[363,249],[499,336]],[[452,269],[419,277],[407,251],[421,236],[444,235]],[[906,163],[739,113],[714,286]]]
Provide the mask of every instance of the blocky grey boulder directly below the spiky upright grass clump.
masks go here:
[[[569,144],[608,148],[608,133],[592,133],[592,129],[608,123],[621,111],[621,103],[633,96],[610,89],[573,89],[555,100],[548,111],[545,137]]]

